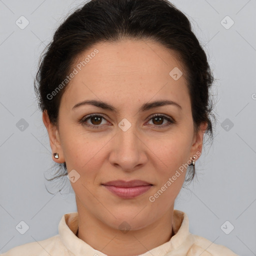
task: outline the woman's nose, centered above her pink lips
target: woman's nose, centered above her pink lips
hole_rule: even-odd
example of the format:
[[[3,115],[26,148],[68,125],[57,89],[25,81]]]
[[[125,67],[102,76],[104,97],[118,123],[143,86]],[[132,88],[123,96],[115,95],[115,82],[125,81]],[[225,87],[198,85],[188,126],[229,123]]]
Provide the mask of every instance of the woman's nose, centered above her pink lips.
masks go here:
[[[117,130],[109,155],[109,162],[126,172],[141,168],[147,161],[147,147],[135,125],[133,126],[126,131]]]

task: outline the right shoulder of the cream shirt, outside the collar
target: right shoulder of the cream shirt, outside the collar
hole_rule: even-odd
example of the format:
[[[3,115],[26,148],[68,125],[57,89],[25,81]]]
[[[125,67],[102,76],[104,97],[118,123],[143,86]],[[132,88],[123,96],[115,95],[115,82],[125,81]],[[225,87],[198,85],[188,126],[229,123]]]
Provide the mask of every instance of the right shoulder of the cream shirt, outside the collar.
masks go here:
[[[193,244],[187,251],[186,256],[193,256],[201,253],[201,256],[238,256],[224,245],[213,243],[212,241],[195,234],[191,234]]]

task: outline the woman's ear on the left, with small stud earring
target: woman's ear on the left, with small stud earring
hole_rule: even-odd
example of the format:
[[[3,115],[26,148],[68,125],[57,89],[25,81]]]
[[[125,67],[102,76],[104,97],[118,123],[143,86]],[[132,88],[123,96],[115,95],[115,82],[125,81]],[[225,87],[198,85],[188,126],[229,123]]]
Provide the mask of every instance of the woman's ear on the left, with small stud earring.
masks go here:
[[[49,116],[47,114],[47,110],[44,110],[42,112],[42,121],[48,131],[48,136],[49,136],[49,141],[50,141],[50,147],[51,147],[51,157],[52,160],[57,162],[57,163],[62,163],[65,161],[60,139],[59,139],[59,133],[57,126],[52,124],[49,120]],[[55,158],[53,153],[58,152],[59,158]]]

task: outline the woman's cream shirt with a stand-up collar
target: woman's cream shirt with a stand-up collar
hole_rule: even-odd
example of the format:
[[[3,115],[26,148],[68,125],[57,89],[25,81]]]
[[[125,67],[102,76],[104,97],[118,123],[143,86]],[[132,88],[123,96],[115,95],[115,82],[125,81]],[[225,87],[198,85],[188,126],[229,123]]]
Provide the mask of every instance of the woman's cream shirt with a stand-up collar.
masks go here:
[[[238,256],[223,245],[214,244],[191,234],[188,217],[183,211],[173,211],[174,235],[169,241],[139,256]],[[38,242],[29,242],[9,249],[1,256],[106,256],[79,239],[78,213],[64,214],[58,224],[58,234]]]

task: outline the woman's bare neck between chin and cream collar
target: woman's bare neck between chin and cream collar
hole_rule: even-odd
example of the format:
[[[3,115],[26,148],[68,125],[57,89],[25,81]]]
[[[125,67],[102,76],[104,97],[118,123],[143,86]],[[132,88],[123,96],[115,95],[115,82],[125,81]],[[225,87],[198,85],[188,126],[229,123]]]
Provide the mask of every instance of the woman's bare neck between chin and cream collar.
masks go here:
[[[78,201],[77,237],[108,256],[139,255],[167,242],[172,235],[172,205],[160,219],[137,230],[119,230],[92,215]]]

